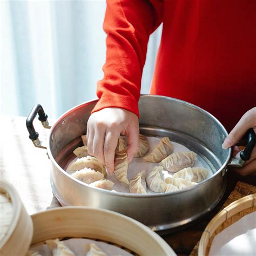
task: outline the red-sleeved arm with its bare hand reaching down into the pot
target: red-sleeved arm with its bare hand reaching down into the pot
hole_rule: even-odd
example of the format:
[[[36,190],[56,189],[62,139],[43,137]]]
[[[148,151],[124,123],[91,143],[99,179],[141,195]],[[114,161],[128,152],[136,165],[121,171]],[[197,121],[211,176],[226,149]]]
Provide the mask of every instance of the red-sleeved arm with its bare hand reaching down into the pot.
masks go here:
[[[104,30],[106,63],[97,84],[99,101],[87,123],[88,152],[114,171],[120,133],[127,136],[129,161],[138,151],[138,100],[150,34],[160,25],[163,1],[109,0]]]

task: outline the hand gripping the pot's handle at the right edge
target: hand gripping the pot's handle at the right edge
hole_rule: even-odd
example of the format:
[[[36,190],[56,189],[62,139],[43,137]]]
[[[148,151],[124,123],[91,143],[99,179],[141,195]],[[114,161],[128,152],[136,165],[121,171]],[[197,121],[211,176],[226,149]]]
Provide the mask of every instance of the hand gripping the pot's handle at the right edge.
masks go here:
[[[228,134],[222,145],[223,149],[233,146],[233,156],[239,152],[238,147],[234,146],[244,136],[248,129],[253,128],[256,132],[256,107],[247,111],[239,120],[234,129]],[[256,174],[256,146],[251,154],[251,158],[245,162],[242,168],[235,169],[241,176]]]

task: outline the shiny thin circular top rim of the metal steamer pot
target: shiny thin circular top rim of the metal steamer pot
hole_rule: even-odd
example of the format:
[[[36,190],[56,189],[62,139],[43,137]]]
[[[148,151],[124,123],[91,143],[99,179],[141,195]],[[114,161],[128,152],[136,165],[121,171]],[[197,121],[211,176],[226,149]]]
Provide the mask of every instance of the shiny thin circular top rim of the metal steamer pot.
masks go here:
[[[217,123],[221,129],[223,129],[226,137],[228,135],[225,127],[223,126],[223,124],[220,123],[220,121],[215,118],[211,113],[207,112],[206,110],[204,109],[201,109],[201,107],[197,106],[197,105],[194,105],[194,104],[191,104],[191,103],[188,103],[188,102],[185,102],[184,100],[181,100],[181,99],[176,99],[176,98],[172,98],[172,97],[167,97],[167,96],[160,96],[160,95],[149,95],[149,94],[141,94],[140,97],[157,97],[157,98],[161,98],[161,99],[171,99],[175,102],[179,102],[181,104],[184,104],[184,105],[187,105],[187,106],[190,106],[192,107],[192,109],[196,110],[196,111],[200,111],[204,114],[206,114],[206,116],[210,117],[211,119],[214,120],[215,123]],[[102,193],[105,193],[105,194],[110,194],[110,195],[115,195],[115,196],[122,196],[122,197],[134,197],[134,198],[151,198],[151,197],[161,197],[161,196],[170,196],[170,194],[180,194],[180,193],[186,193],[188,191],[192,191],[192,190],[195,190],[197,189],[197,187],[200,187],[200,186],[203,186],[205,183],[208,182],[208,180],[211,180],[213,179],[215,176],[217,176],[221,171],[224,170],[224,168],[227,166],[228,164],[228,161],[230,160],[231,158],[231,148],[229,147],[227,150],[228,150],[228,156],[227,156],[227,159],[225,160],[224,164],[221,165],[221,167],[219,168],[219,170],[217,170],[210,178],[200,182],[199,184],[197,185],[194,185],[194,186],[191,186],[191,187],[187,187],[187,188],[184,188],[183,190],[181,191],[177,191],[177,192],[167,192],[167,193],[153,193],[153,194],[133,194],[133,193],[125,193],[125,192],[112,192],[110,190],[103,190],[102,188],[98,188],[98,187],[91,187],[89,186],[89,184],[86,184],[86,183],[83,183],[82,181],[80,180],[77,180],[75,178],[73,178],[72,176],[70,176],[66,171],[64,171],[62,169],[62,167],[60,167],[58,165],[58,163],[56,162],[56,160],[53,158],[52,156],[52,153],[50,151],[50,138],[51,138],[51,134],[52,134],[52,131],[55,129],[56,125],[63,119],[65,118],[71,111],[75,110],[75,109],[79,109],[80,107],[83,107],[84,105],[86,104],[91,104],[91,103],[96,103],[98,102],[98,99],[92,99],[92,100],[89,100],[87,102],[84,102],[82,104],[79,104],[75,107],[72,107],[71,109],[69,109],[68,111],[66,111],[64,114],[62,114],[62,116],[60,116],[57,121],[55,122],[55,124],[51,127],[51,130],[50,130],[50,133],[48,134],[48,138],[47,138],[47,151],[48,151],[48,156],[50,158],[50,160],[53,162],[53,164],[57,167],[57,169],[62,172],[62,174],[64,174],[65,176],[67,176],[68,178],[74,180],[75,182],[79,183],[80,185],[83,185],[83,186],[86,186],[88,188],[92,188],[92,189],[96,189],[96,190],[99,190],[99,192],[102,192]]]

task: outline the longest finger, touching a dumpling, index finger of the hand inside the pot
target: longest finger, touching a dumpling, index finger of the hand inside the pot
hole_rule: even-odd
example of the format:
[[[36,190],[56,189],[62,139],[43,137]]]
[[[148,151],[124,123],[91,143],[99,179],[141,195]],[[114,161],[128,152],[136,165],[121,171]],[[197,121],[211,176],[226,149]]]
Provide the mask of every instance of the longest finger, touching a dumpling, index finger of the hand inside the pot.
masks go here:
[[[103,151],[105,165],[109,174],[112,174],[114,172],[114,153],[117,147],[119,136],[120,132],[118,131],[106,131]]]

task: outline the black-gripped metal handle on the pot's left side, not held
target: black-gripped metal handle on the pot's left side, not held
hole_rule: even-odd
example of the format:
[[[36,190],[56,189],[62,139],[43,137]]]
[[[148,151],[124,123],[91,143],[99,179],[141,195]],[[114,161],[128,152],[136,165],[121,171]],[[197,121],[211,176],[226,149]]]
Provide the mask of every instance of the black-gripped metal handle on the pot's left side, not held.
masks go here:
[[[28,118],[26,119],[26,128],[29,131],[29,138],[32,140],[33,144],[36,147],[43,147],[45,148],[45,146],[42,145],[42,142],[38,139],[39,134],[38,132],[36,132],[34,126],[33,126],[33,120],[35,120],[36,116],[38,114],[38,119],[39,121],[41,121],[42,125],[44,126],[44,128],[46,129],[50,129],[51,126],[48,123],[48,116],[47,114],[45,114],[43,107],[40,104],[36,104],[35,106],[33,106],[32,110],[29,113]]]

